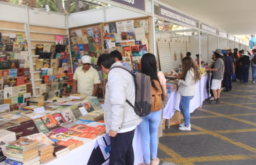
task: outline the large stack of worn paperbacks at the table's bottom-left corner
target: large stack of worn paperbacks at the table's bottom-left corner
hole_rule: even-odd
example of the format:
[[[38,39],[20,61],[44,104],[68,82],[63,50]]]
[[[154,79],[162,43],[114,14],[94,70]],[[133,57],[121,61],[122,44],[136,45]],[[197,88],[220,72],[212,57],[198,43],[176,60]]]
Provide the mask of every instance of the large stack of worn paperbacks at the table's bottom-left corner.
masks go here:
[[[25,137],[13,141],[6,146],[6,164],[27,164],[40,165],[39,153],[36,140],[30,140]]]

